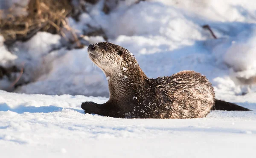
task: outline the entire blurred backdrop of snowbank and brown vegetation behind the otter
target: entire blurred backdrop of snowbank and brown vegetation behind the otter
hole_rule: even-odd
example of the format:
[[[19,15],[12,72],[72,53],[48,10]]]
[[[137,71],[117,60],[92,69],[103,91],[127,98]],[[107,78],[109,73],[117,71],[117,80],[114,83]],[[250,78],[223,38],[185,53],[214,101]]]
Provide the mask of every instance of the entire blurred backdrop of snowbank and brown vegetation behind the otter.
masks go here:
[[[256,93],[256,3],[246,0],[0,0],[0,89],[108,97],[90,43],[134,54],[150,78],[194,70],[216,97]]]

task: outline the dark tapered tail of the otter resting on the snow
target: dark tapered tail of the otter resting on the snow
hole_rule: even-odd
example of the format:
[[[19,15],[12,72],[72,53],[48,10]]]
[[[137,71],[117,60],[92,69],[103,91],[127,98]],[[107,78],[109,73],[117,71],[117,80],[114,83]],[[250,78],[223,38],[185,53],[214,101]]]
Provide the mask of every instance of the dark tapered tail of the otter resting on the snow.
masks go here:
[[[241,107],[237,104],[225,102],[223,100],[218,100],[218,99],[215,99],[215,105],[212,107],[212,110],[251,111],[250,109]]]

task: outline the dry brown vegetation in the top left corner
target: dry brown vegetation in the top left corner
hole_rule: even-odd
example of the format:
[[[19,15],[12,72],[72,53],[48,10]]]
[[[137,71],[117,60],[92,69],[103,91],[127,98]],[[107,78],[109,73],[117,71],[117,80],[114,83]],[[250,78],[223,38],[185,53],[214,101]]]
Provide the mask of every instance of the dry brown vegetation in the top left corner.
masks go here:
[[[61,28],[70,30],[66,17],[72,11],[71,0],[30,0],[28,6],[15,7],[23,7],[27,14],[13,16],[12,7],[0,19],[0,34],[6,43],[28,40],[38,31],[62,34]]]

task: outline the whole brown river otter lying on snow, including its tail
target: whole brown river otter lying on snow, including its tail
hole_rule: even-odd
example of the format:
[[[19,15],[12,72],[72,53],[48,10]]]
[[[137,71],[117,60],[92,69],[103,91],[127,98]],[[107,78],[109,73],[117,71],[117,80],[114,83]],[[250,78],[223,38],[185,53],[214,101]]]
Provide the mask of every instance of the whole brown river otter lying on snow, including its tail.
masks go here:
[[[208,79],[195,71],[149,79],[125,48],[110,42],[90,44],[90,59],[108,80],[110,99],[83,102],[85,113],[116,118],[202,118],[210,110],[249,109],[215,99]]]

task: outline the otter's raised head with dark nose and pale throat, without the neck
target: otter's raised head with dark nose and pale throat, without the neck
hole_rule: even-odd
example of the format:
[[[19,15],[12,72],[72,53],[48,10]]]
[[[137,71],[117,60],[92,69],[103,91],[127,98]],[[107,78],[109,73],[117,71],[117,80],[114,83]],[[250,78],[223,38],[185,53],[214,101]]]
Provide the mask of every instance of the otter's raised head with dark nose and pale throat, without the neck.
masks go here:
[[[134,56],[125,48],[110,42],[90,44],[88,47],[90,59],[102,69],[106,76],[125,75],[129,68],[138,67]]]

